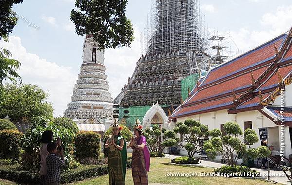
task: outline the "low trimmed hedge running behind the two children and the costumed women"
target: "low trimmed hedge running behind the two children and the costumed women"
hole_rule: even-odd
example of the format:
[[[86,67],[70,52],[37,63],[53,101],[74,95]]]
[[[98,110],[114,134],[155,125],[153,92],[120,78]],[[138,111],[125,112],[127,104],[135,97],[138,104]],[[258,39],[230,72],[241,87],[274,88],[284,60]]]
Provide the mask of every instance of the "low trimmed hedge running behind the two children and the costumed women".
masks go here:
[[[131,165],[132,161],[127,160],[127,168],[131,168]],[[108,165],[80,165],[62,173],[61,183],[72,183],[105,174],[108,174]],[[29,185],[38,185],[40,182],[38,173],[24,171],[19,164],[0,166],[0,178]]]

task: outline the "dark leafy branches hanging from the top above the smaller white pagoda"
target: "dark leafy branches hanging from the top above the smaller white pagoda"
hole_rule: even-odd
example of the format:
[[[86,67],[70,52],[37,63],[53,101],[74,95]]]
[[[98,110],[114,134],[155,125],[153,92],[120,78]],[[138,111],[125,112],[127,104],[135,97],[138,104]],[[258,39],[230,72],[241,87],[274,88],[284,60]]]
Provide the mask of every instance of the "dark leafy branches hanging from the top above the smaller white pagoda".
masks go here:
[[[100,50],[129,46],[133,26],[125,15],[128,0],[76,0],[70,19],[78,35],[93,34]]]

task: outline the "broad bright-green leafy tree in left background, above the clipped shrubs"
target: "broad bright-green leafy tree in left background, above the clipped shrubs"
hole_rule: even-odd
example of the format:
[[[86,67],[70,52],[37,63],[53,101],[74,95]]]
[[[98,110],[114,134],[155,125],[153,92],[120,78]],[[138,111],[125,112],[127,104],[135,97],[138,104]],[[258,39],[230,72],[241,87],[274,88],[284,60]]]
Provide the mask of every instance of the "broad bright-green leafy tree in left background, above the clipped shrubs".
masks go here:
[[[53,118],[53,108],[47,102],[48,94],[37,85],[6,84],[0,101],[0,118],[9,115],[11,121],[21,121],[22,118],[30,120],[43,116]]]

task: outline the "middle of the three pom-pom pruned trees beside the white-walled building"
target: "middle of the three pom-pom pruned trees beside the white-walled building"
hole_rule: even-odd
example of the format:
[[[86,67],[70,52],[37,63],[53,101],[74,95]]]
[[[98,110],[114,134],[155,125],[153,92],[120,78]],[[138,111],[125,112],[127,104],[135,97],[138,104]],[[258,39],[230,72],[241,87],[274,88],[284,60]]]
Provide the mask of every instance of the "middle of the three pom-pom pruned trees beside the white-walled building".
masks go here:
[[[209,135],[208,127],[193,119],[187,119],[184,123],[178,122],[173,131],[181,135],[179,146],[187,150],[189,157],[201,152],[200,140]]]

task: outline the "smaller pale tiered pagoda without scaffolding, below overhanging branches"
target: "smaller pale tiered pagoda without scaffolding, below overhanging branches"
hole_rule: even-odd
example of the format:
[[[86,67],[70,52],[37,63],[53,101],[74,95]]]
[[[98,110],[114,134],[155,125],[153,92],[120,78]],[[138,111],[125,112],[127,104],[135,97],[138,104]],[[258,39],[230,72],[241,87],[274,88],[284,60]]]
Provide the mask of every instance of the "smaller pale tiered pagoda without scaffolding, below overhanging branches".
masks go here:
[[[97,49],[92,34],[86,35],[83,45],[83,63],[77,83],[73,89],[71,102],[64,112],[67,118],[78,119],[78,123],[87,120],[104,122],[110,119],[113,112],[111,93],[109,90],[104,50]]]

